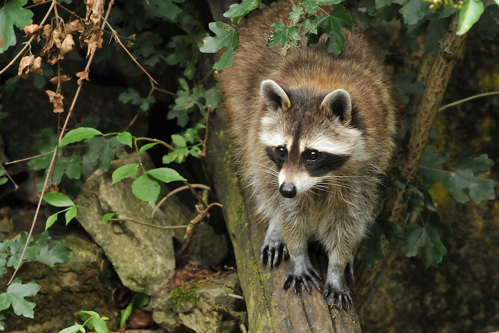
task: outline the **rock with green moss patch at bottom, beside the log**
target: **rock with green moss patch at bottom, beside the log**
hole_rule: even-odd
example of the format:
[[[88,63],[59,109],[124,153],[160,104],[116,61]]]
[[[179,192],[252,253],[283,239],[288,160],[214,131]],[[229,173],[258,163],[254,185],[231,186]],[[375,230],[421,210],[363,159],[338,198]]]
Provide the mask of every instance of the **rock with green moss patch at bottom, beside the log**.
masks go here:
[[[170,333],[185,328],[197,333],[232,333],[247,316],[244,301],[234,294],[241,295],[237,273],[161,290],[151,297],[146,310]]]

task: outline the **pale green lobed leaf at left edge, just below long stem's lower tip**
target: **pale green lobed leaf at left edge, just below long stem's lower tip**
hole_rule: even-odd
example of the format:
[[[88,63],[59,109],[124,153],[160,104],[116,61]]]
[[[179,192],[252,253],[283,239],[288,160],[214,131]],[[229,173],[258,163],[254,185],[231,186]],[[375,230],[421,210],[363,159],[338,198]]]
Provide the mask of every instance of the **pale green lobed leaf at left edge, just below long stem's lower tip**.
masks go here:
[[[24,298],[35,296],[39,290],[40,286],[34,281],[23,285],[20,278],[15,278],[8,286],[7,292],[0,294],[0,311],[12,306],[14,314],[17,316],[33,318],[35,304],[24,300]]]

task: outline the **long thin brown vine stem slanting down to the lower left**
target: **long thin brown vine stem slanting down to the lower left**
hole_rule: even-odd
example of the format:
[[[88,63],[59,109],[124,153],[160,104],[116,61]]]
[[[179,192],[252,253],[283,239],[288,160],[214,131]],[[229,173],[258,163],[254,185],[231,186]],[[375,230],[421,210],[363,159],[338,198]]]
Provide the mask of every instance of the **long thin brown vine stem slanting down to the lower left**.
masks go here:
[[[54,7],[55,3],[56,3],[56,0],[52,0],[52,5],[50,6],[49,12]],[[109,12],[111,11],[113,3],[114,3],[114,0],[109,1],[109,5],[107,7],[107,12],[106,12],[106,17],[109,17]],[[47,12],[47,14],[45,15],[45,18],[43,19],[42,24],[43,24],[43,22],[45,22],[46,17],[48,17],[49,12]],[[105,23],[102,23],[102,27],[101,27],[102,29],[104,28],[104,24]],[[94,54],[95,54],[95,52],[92,52],[92,54],[90,54],[90,57],[88,58],[87,65],[85,66],[86,72],[89,71],[90,63],[92,62]],[[76,103],[76,99],[78,98],[78,95],[80,94],[80,90],[81,90],[82,85],[83,85],[83,81],[78,85],[78,89],[76,89],[76,93],[74,94],[73,101],[71,102],[71,106],[69,107],[69,110],[67,112],[66,120],[64,121],[64,125],[61,128],[59,138],[57,139],[57,144],[64,136],[64,132],[65,132],[67,124],[69,122],[69,118],[71,118],[71,115],[73,113],[74,104]],[[19,270],[19,267],[21,266],[22,258],[24,257],[24,254],[26,253],[29,239],[31,238],[31,235],[33,234],[33,229],[34,229],[34,225],[36,223],[36,218],[38,217],[38,213],[40,212],[41,202],[43,200],[43,194],[45,193],[45,188],[47,187],[48,178],[50,176],[50,171],[52,170],[56,156],[57,156],[57,150],[54,150],[54,153],[52,155],[52,160],[50,161],[50,164],[47,168],[47,175],[45,177],[45,181],[43,182],[43,187],[41,190],[40,199],[38,200],[38,205],[36,206],[36,211],[34,213],[33,222],[31,223],[31,228],[29,229],[28,238],[27,238],[26,244],[24,244],[24,249],[22,249],[21,260],[19,260],[19,262],[17,263],[17,266],[15,267],[14,273],[12,273],[12,276],[10,277],[10,280],[8,281],[7,286],[10,285],[10,283],[12,283],[12,280],[14,279],[15,274],[17,273],[17,271]]]

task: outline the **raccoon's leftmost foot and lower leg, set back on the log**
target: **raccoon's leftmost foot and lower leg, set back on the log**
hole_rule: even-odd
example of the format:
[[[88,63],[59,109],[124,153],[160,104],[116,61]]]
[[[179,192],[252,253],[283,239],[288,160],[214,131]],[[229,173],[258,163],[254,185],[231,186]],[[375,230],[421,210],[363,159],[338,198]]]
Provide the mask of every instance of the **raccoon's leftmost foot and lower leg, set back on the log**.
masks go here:
[[[272,266],[278,266],[281,259],[286,260],[287,258],[289,258],[289,251],[284,237],[282,237],[278,221],[271,219],[260,250],[261,264],[265,266],[268,262],[268,267],[272,268]]]

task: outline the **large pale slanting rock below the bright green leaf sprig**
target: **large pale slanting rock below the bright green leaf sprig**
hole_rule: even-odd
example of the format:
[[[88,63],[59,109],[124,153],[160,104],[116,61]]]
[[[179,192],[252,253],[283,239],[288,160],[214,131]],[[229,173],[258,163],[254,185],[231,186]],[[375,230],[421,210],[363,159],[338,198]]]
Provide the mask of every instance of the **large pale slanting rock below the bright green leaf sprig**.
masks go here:
[[[144,166],[150,168],[152,162],[147,154],[141,155]],[[118,167],[137,163],[136,154],[125,160],[111,163],[107,172],[97,170],[83,185],[75,204],[87,207],[100,215],[116,212],[117,218],[131,219],[157,226],[173,225],[172,216],[156,212],[153,219],[151,206],[138,199],[131,191],[132,182],[142,173],[111,185],[111,175]],[[179,207],[182,211],[182,207]],[[129,289],[152,294],[166,284],[175,270],[171,230],[147,227],[130,221],[113,221],[100,224],[99,216],[78,210],[76,217],[94,241],[104,250],[120,277]],[[187,221],[187,217],[184,217]]]

